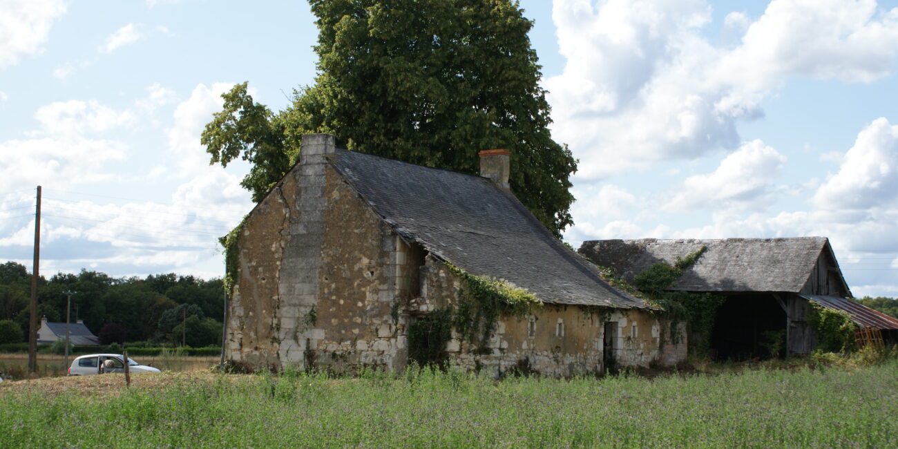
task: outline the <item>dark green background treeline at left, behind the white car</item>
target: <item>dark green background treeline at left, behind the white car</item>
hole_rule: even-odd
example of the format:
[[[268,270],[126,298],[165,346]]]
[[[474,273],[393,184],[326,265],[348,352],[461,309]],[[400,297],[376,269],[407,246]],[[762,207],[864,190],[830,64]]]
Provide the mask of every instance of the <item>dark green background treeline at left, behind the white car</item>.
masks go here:
[[[145,341],[190,347],[220,345],[225,311],[222,280],[174,273],[110,277],[82,269],[38,280],[38,315],[66,321],[66,291],[77,318],[103,344]],[[27,341],[31,273],[22,264],[0,264],[0,344]],[[185,328],[186,327],[186,331]]]

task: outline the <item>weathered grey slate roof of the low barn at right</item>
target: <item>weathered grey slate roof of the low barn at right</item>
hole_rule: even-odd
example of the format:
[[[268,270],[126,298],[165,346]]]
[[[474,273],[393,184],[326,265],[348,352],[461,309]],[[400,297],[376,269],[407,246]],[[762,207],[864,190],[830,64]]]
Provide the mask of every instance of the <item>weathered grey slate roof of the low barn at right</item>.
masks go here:
[[[663,261],[708,249],[683,271],[674,290],[691,292],[791,292],[805,286],[824,249],[825,237],[724,240],[599,240],[583,242],[580,252],[633,281],[639,272]],[[832,250],[829,250],[832,251]],[[835,258],[833,257],[833,260]],[[846,286],[846,290],[847,290]]]

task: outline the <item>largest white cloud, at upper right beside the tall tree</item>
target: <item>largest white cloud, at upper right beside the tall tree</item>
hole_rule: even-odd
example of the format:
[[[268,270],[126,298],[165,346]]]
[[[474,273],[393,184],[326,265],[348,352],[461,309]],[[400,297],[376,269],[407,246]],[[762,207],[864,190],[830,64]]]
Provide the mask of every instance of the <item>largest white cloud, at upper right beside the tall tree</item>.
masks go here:
[[[774,0],[735,46],[702,34],[709,5],[687,2],[557,0],[553,21],[568,61],[546,80],[553,133],[595,180],[740,145],[736,123],[762,117],[761,101],[788,79],[868,82],[898,57],[898,8],[867,0]]]

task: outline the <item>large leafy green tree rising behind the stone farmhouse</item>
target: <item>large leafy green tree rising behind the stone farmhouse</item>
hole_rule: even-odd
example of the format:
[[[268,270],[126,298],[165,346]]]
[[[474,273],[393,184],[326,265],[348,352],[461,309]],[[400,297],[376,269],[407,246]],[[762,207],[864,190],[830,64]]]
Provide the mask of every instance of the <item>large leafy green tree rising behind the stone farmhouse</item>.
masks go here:
[[[300,136],[329,132],[350,149],[476,173],[478,152],[512,151],[511,187],[554,233],[572,223],[577,162],[550,136],[549,105],[511,0],[310,0],[319,75],[277,114],[246,83],[225,93],[202,136],[212,163],[252,163],[259,200],[289,169]]]

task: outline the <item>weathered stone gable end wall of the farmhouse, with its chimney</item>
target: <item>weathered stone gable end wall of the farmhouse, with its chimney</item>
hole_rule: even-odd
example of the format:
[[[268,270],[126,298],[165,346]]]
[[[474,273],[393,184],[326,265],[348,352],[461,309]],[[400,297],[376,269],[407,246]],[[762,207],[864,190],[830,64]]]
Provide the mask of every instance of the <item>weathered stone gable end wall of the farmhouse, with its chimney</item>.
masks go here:
[[[340,371],[405,364],[400,298],[414,251],[304,142],[301,162],[247,220],[226,356]]]

